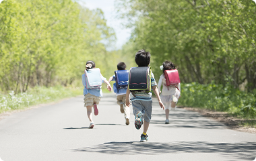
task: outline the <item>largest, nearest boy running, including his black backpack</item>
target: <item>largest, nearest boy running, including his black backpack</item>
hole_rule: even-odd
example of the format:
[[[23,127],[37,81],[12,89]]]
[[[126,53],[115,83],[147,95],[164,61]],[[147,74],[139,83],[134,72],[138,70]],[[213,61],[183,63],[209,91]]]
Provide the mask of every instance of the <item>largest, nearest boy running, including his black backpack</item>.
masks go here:
[[[152,93],[153,89],[160,107],[164,109],[164,105],[160,99],[154,74],[149,66],[150,52],[139,50],[135,54],[135,62],[138,67],[131,67],[129,70],[129,85],[126,92],[126,105],[129,107],[129,95],[133,105],[133,114],[135,115],[135,127],[140,129],[143,124],[143,133],[141,134],[141,142],[148,141],[148,127],[152,115]],[[144,121],[143,121],[144,119]]]

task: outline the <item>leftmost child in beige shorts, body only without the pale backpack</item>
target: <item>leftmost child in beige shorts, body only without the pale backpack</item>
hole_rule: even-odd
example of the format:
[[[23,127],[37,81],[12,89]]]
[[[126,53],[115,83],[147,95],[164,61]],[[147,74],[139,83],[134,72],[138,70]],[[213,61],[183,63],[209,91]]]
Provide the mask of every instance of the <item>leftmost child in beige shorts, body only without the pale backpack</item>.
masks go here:
[[[95,68],[95,63],[91,60],[86,62],[86,70]],[[106,83],[108,91],[111,91],[112,88],[106,78],[100,74],[102,83]],[[86,88],[86,76],[82,74],[82,83],[84,85],[84,107],[87,109],[88,119],[90,120],[89,128],[94,127],[94,121],[92,120],[92,107],[94,107],[94,115],[98,115],[97,105],[100,103],[100,97],[102,97],[102,89],[87,89]]]

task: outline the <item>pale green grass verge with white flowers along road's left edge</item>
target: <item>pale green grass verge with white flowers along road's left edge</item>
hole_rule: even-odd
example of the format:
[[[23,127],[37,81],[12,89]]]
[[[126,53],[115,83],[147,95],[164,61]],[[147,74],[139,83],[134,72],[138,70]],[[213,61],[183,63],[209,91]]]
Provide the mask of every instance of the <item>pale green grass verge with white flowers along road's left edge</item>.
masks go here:
[[[34,87],[28,92],[18,95],[14,95],[14,92],[10,91],[7,95],[0,94],[0,113],[16,109],[25,109],[26,107],[40,103],[58,101],[67,97],[82,95],[82,93],[82,88],[61,86],[50,88]]]

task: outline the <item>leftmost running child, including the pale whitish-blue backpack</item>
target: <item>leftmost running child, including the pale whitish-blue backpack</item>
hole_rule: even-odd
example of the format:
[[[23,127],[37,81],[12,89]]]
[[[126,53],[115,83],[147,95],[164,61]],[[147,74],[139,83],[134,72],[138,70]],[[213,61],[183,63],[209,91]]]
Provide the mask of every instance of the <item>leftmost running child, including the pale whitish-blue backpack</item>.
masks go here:
[[[102,97],[102,83],[106,83],[108,91],[112,88],[106,78],[102,76],[99,68],[95,68],[94,61],[89,60],[86,62],[86,70],[82,74],[82,83],[84,85],[84,107],[87,109],[88,119],[90,120],[89,128],[94,127],[92,121],[92,107],[94,107],[94,115],[98,115],[97,105],[100,103]]]

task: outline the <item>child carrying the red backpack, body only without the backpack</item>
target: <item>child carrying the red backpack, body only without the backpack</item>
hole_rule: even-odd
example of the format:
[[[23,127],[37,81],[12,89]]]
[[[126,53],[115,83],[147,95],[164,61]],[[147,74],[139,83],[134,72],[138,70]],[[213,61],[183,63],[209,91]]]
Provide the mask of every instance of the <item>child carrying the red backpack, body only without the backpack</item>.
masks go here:
[[[171,69],[176,69],[176,65],[174,65],[172,62],[166,60],[162,63],[162,66],[160,66],[161,70],[164,73],[164,70],[171,70]],[[161,86],[162,87],[162,92],[161,90]],[[166,115],[166,120],[165,123],[168,124],[169,123],[169,113],[170,113],[170,109],[174,110],[177,107],[177,102],[178,99],[181,95],[181,84],[179,83],[179,85],[170,85],[170,86],[166,86],[166,78],[164,77],[164,74],[162,74],[159,78],[158,81],[158,89],[159,89],[159,93],[161,93],[161,100],[164,103],[164,107],[165,107],[165,115]]]

